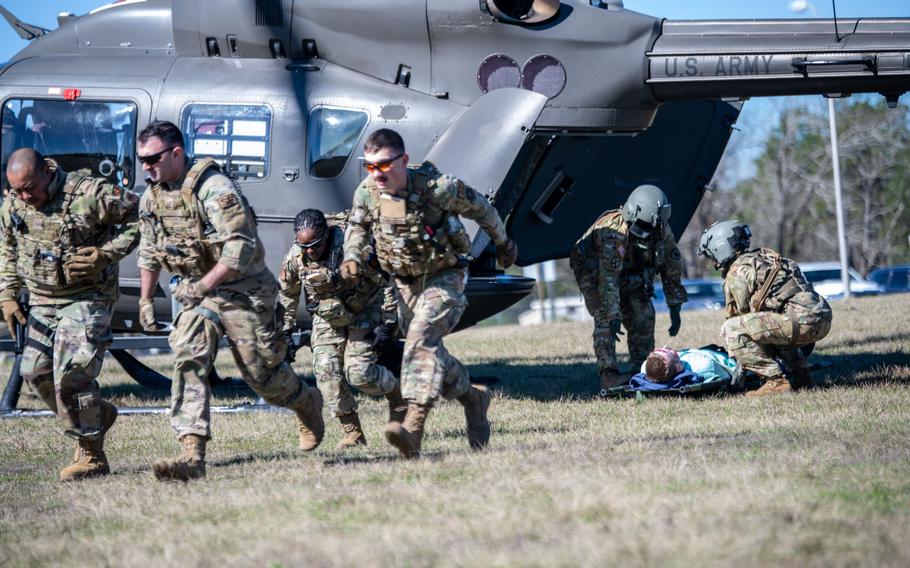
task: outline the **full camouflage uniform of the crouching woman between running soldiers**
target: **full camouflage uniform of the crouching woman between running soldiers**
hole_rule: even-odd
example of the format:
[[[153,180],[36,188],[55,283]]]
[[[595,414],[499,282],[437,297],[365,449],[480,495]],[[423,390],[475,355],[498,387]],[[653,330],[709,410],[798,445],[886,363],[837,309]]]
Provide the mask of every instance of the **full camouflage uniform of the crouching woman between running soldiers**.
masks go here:
[[[376,362],[373,350],[373,329],[380,323],[396,321],[395,298],[385,276],[366,262],[357,282],[338,278],[344,231],[340,227],[328,230],[323,260],[307,260],[296,245],[288,251],[278,276],[278,301],[284,330],[292,331],[303,289],[307,311],[313,317],[313,372],[329,411],[341,417],[357,410],[347,383],[371,396],[387,395],[398,385],[395,375]]]

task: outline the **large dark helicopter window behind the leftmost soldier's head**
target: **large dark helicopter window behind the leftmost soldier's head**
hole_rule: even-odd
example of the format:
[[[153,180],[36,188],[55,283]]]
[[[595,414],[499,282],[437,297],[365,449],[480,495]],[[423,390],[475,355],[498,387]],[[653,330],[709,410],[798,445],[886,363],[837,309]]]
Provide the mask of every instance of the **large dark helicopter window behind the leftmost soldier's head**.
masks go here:
[[[128,101],[7,99],[3,103],[0,173],[19,148],[33,148],[65,171],[89,170],[132,187],[136,105]]]

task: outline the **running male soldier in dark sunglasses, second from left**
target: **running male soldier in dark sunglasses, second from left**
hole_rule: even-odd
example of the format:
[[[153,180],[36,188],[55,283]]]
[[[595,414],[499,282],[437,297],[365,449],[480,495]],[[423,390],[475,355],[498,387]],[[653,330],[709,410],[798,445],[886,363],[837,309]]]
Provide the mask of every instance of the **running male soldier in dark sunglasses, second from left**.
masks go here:
[[[214,161],[187,159],[183,135],[169,122],[153,122],[140,133],[138,155],[151,180],[139,206],[139,321],[156,328],[152,296],[162,268],[180,277],[172,293],[183,304],[169,337],[171,425],[183,452],[156,463],[155,476],[205,477],[208,376],[224,336],[243,380],[269,403],[292,409],[300,447],[315,449],[325,428],[322,397],[283,361],[278,283],[265,266],[246,200]]]

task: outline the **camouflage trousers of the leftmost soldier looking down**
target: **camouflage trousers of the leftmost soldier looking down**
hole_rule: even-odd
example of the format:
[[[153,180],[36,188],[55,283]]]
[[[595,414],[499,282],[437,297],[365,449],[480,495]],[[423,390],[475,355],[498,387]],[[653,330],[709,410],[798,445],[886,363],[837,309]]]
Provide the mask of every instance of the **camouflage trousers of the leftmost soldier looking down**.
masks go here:
[[[29,312],[22,378],[74,438],[94,439],[101,429],[95,379],[113,339],[112,309],[108,299],[90,299],[37,305]]]

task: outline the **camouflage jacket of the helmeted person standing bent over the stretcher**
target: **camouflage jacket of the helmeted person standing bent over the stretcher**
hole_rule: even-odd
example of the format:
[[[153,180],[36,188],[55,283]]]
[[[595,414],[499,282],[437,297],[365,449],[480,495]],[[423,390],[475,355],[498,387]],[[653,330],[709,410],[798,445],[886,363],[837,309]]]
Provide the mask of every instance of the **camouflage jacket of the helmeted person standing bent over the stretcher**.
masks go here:
[[[607,211],[575,243],[570,256],[572,271],[582,294],[597,294],[608,319],[619,319],[620,293],[643,290],[654,293],[660,274],[668,306],[687,299],[682,285],[682,262],[669,225],[661,234],[642,241],[629,235],[619,209]]]

